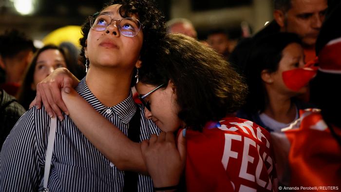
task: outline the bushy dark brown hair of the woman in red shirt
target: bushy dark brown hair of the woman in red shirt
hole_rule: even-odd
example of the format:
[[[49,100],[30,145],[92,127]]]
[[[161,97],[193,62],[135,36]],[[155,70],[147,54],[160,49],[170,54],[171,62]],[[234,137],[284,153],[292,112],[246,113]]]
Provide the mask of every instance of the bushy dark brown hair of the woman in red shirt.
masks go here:
[[[159,51],[140,70],[140,81],[176,88],[178,116],[191,129],[201,131],[244,103],[246,85],[231,65],[210,47],[182,34],[168,34]]]

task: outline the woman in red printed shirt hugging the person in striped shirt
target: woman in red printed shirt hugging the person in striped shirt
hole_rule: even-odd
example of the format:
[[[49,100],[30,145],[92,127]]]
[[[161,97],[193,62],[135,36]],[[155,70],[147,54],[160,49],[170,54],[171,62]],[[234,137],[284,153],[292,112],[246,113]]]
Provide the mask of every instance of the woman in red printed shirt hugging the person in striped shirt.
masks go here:
[[[101,153],[125,170],[132,162],[117,160],[119,156],[138,154],[145,164],[132,170],[146,169],[155,191],[183,190],[184,166],[187,191],[272,190],[269,134],[231,115],[243,103],[246,85],[214,50],[193,38],[169,34],[152,62],[139,69],[138,79],[135,87],[145,117],[163,131],[141,144],[118,134],[112,123],[72,89],[62,93],[71,118]],[[177,147],[174,133],[179,134]]]

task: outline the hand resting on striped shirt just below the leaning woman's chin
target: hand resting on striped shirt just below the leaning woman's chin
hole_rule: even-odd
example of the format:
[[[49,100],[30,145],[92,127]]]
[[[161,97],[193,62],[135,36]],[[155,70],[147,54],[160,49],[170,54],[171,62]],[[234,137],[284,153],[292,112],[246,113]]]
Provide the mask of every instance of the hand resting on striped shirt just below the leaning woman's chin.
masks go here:
[[[186,129],[178,137],[177,147],[174,134],[162,132],[152,134],[149,140],[141,143],[143,159],[154,187],[169,187],[179,184],[186,163]]]

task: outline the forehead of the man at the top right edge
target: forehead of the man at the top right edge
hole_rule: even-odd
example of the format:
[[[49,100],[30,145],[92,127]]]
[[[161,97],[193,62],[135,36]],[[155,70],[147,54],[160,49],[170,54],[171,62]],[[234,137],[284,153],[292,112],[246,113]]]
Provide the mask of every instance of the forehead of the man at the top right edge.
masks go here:
[[[289,12],[316,13],[328,7],[327,0],[291,0]]]

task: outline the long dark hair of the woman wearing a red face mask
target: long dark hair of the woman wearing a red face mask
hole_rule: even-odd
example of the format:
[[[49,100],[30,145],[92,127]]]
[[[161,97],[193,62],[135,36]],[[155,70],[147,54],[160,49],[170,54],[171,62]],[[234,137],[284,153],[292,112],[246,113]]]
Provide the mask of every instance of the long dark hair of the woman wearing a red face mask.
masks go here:
[[[282,51],[290,43],[302,44],[300,38],[293,33],[274,33],[255,40],[246,61],[245,77],[249,94],[244,110],[247,113],[263,112],[267,102],[267,93],[263,85],[261,73],[267,70],[276,72],[282,59]]]

